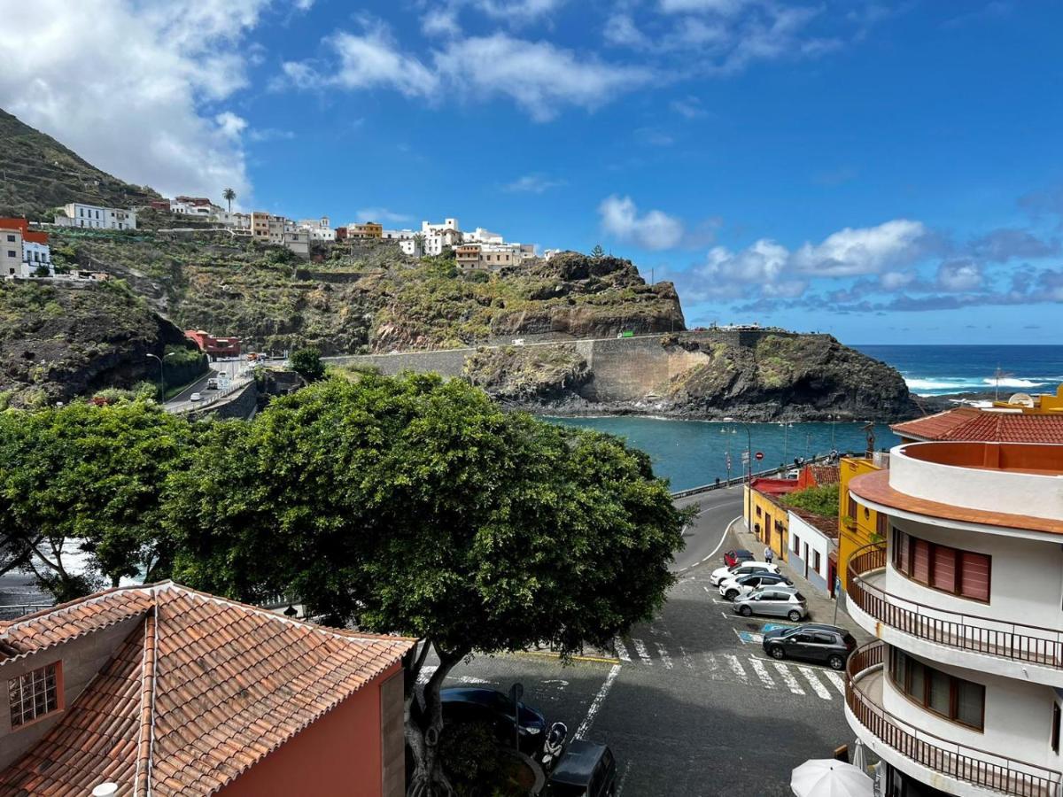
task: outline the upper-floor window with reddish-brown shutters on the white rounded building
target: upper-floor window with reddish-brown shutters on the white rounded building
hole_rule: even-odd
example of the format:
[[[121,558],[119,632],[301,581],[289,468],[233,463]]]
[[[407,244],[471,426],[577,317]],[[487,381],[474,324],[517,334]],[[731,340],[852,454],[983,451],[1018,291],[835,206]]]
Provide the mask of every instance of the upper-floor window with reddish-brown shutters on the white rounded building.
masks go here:
[[[914,581],[972,600],[990,600],[992,558],[893,531],[893,566]]]

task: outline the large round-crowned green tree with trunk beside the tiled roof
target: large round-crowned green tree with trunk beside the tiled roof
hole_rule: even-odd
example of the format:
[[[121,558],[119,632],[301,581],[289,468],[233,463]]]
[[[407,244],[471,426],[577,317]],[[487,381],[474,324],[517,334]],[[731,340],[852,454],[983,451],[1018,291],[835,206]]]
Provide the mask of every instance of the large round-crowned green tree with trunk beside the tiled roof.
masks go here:
[[[543,641],[572,652],[649,617],[684,523],[619,439],[424,375],[333,378],[214,424],[166,508],[179,580],[250,601],[294,591],[334,622],[423,640],[406,673],[417,795],[449,791],[454,665]]]

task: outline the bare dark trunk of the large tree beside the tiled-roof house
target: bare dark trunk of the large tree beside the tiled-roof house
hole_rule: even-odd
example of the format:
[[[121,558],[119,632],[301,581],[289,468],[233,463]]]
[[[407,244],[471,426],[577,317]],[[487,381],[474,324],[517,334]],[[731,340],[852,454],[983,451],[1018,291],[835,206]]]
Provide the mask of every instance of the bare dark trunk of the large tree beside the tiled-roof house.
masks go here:
[[[439,742],[443,732],[443,705],[439,690],[454,665],[470,651],[452,652],[436,647],[439,666],[424,686],[422,708],[418,700],[417,678],[431,643],[422,644],[425,648],[406,679],[405,733],[406,744],[414,753],[414,774],[406,794],[407,797],[450,797],[454,787],[446,779],[439,758]]]

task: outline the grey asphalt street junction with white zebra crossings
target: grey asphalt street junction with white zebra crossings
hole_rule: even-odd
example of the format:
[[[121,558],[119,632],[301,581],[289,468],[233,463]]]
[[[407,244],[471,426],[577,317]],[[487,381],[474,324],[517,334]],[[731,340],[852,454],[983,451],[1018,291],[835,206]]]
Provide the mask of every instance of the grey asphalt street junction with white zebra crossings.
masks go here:
[[[520,681],[524,701],[570,737],[612,747],[620,795],[790,795],[793,767],[851,742],[843,676],[767,657],[763,632],[796,624],[731,613],[709,582],[720,563],[687,570],[660,614],[615,641],[614,659],[476,657],[444,685]]]

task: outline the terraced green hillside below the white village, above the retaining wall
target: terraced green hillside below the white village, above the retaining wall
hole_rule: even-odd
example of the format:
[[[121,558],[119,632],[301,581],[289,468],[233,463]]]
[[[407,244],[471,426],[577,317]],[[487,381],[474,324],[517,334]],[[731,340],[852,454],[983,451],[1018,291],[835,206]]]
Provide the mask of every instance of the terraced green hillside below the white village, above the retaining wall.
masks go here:
[[[388,241],[337,247],[306,264],[217,234],[54,237],[182,328],[239,336],[251,350],[354,354],[685,328],[671,283],[648,286],[630,261],[611,257],[564,253],[488,274],[416,260]]]

